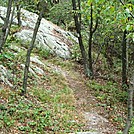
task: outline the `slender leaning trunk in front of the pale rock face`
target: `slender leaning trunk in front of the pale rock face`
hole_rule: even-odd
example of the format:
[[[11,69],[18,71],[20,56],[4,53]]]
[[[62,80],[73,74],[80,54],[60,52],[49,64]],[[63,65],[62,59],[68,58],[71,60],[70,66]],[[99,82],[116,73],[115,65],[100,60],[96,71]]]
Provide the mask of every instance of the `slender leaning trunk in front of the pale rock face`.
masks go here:
[[[35,25],[35,29],[34,29],[34,33],[33,33],[33,37],[32,37],[30,47],[27,50],[25,69],[24,69],[22,95],[26,94],[26,91],[27,91],[27,79],[28,79],[29,66],[30,66],[30,55],[31,55],[31,52],[32,52],[32,50],[35,46],[34,43],[35,43],[36,35],[37,35],[37,32],[38,32],[38,29],[39,29],[40,22],[41,22],[44,11],[45,11],[45,8],[42,7],[42,11],[40,12],[39,17],[38,17],[37,22],[36,22],[36,25]]]

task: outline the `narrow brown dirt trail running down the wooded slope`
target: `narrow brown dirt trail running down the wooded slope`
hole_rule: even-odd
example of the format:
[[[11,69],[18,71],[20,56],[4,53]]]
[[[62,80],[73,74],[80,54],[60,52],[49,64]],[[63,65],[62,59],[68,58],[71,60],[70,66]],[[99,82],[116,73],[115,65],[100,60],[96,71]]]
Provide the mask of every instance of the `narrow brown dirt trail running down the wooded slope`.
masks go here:
[[[87,121],[84,131],[96,134],[116,134],[116,127],[106,119],[107,113],[104,107],[99,106],[99,102],[87,89],[86,80],[79,72],[61,70],[68,81],[68,85],[73,89],[77,99],[76,106],[81,110]]]

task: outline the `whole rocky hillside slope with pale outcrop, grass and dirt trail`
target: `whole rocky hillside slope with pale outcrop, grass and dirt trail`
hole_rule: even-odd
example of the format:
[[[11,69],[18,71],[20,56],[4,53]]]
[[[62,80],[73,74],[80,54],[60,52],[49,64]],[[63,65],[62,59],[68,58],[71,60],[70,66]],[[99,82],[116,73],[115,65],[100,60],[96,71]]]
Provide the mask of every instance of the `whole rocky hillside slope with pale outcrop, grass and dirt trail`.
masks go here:
[[[0,8],[3,17],[5,11]],[[76,37],[44,19],[30,59],[28,90],[20,95],[37,19],[36,14],[23,12],[22,28],[12,26],[0,55],[0,134],[115,134],[122,130],[126,105],[120,100],[125,95],[117,83],[86,78],[83,67],[71,60]],[[39,47],[43,44],[44,49]]]

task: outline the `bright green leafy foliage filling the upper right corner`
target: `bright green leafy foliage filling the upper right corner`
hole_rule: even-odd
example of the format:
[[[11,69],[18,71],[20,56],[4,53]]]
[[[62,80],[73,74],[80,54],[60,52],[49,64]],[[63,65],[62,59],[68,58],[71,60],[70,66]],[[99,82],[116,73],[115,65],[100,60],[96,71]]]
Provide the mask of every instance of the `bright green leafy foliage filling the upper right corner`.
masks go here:
[[[105,0],[88,0],[82,2],[82,24],[84,24],[84,30],[86,33],[84,37],[88,37],[88,26],[90,26],[90,5],[93,5],[93,22],[95,27],[96,17],[99,17],[99,25],[94,34],[93,42],[94,48],[101,48],[101,52],[110,57],[116,56],[117,58],[121,57],[121,47],[122,42],[122,33],[126,29],[128,32],[128,37],[130,43],[133,40],[133,24],[134,19],[130,17],[132,13],[133,4],[126,2],[125,5],[121,5],[117,1],[105,1]],[[129,13],[130,12],[130,13]],[[128,19],[129,17],[129,19]],[[107,50],[109,49],[109,51]],[[128,48],[129,52],[133,49]],[[129,59],[130,60],[130,59]]]

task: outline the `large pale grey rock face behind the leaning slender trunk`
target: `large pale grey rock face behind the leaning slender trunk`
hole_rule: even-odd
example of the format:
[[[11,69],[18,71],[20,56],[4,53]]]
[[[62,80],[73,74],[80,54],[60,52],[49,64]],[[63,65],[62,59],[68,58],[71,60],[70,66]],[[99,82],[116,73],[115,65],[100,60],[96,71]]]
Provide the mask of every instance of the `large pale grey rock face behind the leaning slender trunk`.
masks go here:
[[[5,17],[5,7],[0,6],[0,14],[2,17]],[[31,41],[37,18],[37,14],[21,9],[22,29],[16,32],[14,36],[25,42]],[[3,23],[1,19],[0,23]],[[13,23],[17,24],[16,18],[14,18]],[[69,46],[72,45],[72,41],[70,38],[77,41],[77,38],[70,32],[62,30],[60,27],[43,18],[38,30],[35,44],[37,48],[47,49],[51,53],[67,59],[71,56]]]

